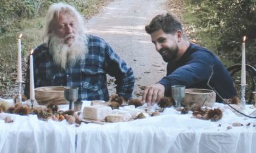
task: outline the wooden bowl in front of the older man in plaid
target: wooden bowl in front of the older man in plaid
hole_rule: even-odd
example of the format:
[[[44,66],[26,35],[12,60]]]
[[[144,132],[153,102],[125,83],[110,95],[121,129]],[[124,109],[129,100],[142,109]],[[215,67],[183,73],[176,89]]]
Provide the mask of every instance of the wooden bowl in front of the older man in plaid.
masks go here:
[[[65,86],[42,86],[35,88],[35,99],[38,104],[69,104],[64,99]]]

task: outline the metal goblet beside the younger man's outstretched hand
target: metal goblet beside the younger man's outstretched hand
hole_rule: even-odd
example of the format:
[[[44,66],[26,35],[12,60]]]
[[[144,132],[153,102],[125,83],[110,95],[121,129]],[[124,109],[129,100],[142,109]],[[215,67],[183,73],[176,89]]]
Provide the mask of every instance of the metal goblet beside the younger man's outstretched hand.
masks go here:
[[[176,102],[176,109],[181,109],[181,100],[185,97],[185,87],[183,85],[171,86],[171,96]]]

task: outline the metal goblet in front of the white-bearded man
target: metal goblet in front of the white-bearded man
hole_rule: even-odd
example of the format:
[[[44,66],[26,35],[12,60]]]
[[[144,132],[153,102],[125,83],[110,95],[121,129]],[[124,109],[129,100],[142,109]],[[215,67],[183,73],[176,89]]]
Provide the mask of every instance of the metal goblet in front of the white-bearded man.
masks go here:
[[[64,89],[64,98],[69,102],[69,109],[73,109],[73,104],[78,98],[78,87],[67,86]]]

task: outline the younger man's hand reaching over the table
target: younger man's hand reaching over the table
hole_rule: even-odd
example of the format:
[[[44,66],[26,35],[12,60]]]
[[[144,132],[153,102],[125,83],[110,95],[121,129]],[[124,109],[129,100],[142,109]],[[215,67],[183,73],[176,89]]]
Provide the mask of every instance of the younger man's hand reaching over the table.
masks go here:
[[[142,102],[147,102],[147,106],[151,106],[155,104],[155,102],[158,103],[164,94],[165,86],[162,84],[157,83],[147,86],[142,95]]]

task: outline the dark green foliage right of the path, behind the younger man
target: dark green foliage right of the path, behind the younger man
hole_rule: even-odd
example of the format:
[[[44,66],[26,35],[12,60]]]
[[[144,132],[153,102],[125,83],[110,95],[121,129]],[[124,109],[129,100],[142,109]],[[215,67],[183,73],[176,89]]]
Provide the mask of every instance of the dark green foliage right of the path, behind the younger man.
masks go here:
[[[187,5],[192,6],[187,12],[197,18],[199,33],[205,31],[206,37],[217,42],[214,44],[220,57],[240,63],[241,42],[246,35],[247,64],[256,66],[255,0],[187,0]]]

